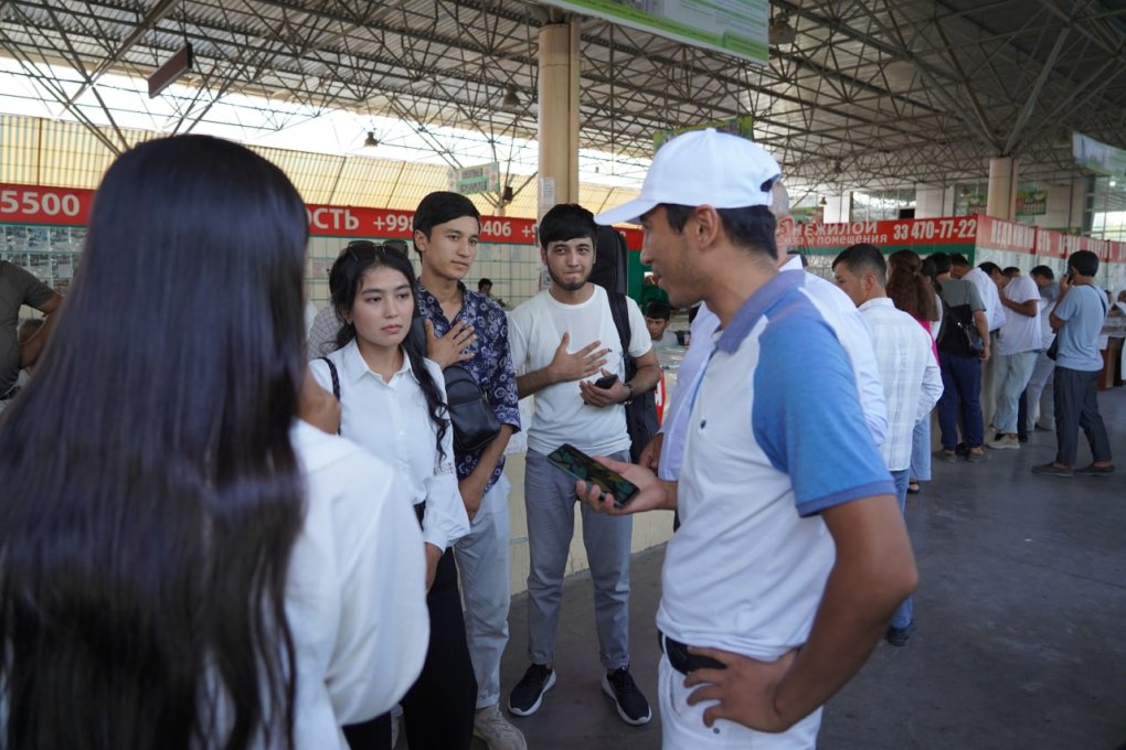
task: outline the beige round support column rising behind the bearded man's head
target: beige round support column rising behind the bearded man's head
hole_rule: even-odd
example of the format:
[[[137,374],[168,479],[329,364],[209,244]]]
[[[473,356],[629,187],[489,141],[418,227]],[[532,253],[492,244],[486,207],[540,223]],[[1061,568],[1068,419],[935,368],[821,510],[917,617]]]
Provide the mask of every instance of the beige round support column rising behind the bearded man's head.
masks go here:
[[[579,18],[539,28],[537,216],[579,201]]]

